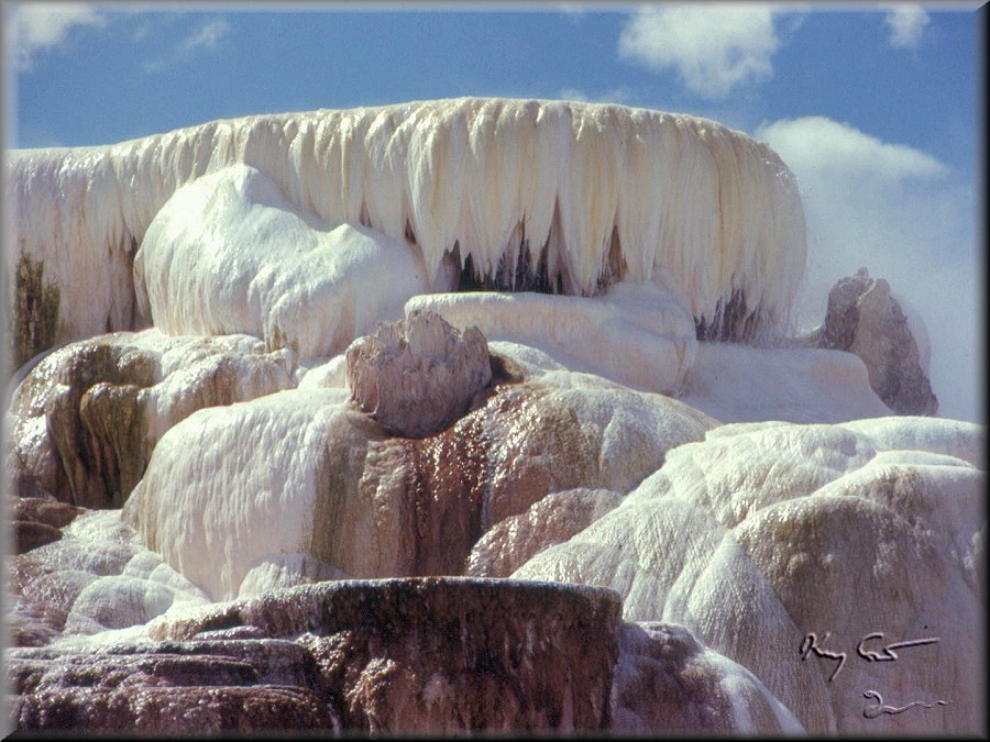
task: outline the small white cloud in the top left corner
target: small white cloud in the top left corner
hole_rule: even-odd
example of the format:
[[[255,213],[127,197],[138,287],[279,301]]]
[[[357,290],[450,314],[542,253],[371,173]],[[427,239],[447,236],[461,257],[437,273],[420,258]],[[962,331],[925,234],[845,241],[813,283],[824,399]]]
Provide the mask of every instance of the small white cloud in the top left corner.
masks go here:
[[[92,7],[70,2],[45,2],[18,7],[9,26],[7,44],[21,71],[32,68],[38,53],[63,47],[79,27],[102,27],[106,18]]]

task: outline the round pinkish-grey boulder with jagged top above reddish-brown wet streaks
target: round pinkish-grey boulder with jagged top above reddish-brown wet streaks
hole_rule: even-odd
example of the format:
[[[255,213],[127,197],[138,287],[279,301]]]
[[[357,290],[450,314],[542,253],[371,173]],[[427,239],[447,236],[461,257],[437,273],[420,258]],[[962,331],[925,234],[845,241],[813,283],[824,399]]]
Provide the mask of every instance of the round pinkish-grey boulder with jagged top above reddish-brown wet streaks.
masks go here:
[[[378,325],[346,352],[351,398],[389,431],[440,432],[463,417],[492,380],[488,344],[437,312],[411,312]]]

